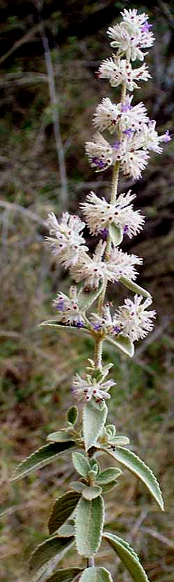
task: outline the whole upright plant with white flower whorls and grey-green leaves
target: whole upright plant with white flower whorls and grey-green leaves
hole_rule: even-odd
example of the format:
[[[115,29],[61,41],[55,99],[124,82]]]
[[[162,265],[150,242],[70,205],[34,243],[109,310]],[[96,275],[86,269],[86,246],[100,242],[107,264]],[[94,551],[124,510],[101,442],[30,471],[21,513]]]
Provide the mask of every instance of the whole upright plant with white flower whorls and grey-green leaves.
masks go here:
[[[129,190],[118,194],[118,174],[139,180],[148,164],[149,152],[161,153],[161,142],[171,138],[166,132],[159,136],[155,121],[148,118],[144,104],[132,104],[132,91],[139,88],[139,81],[148,81],[147,65],[132,67],[132,61],[143,61],[143,49],[154,42],[148,24],[148,16],[137,10],[123,10],[122,22],[109,27],[111,47],[117,53],[106,58],[97,72],[99,78],[109,79],[112,87],[121,87],[118,103],[109,97],[97,106],[93,123],[96,133],[93,141],[86,143],[90,164],[97,172],[113,166],[111,198],[99,198],[94,192],[81,204],[91,235],[99,235],[93,258],[83,236],[85,222],[68,212],[57,221],[49,214],[47,244],[58,262],[70,274],[78,287],[70,287],[69,295],[59,292],[54,299],[56,317],[44,325],[56,326],[75,333],[87,333],[94,340],[94,357],[88,361],[84,377],[78,374],[72,379],[72,393],[77,400],[84,400],[83,419],[78,421],[78,409],[68,410],[67,425],[49,434],[49,443],[33,453],[15,470],[14,480],[24,477],[29,471],[56,461],[59,455],[72,452],[72,463],[79,478],[70,483],[70,491],[54,503],[49,519],[49,537],[33,552],[29,571],[32,581],[49,582],[109,582],[111,574],[102,565],[95,567],[95,554],[102,538],[108,542],[135,582],[147,582],[148,577],[134,550],[120,537],[104,530],[103,496],[116,487],[122,471],[111,466],[100,468],[100,455],[110,455],[116,464],[126,467],[139,478],[164,509],[161,491],[152,471],[132,450],[127,448],[129,439],[116,435],[116,427],[107,424],[106,400],[115,382],[108,379],[112,363],[104,365],[102,352],[106,343],[116,349],[134,355],[134,342],[144,338],[153,327],[155,310],[148,310],[152,303],[150,294],[136,285],[136,265],[142,260],[136,255],[124,253],[119,245],[125,233],[134,237],[143,228],[144,217],[134,210],[135,195]],[[111,136],[107,141],[101,132]],[[108,281],[120,281],[134,298],[113,308],[105,303]],[[92,307],[97,301],[94,311]],[[90,311],[92,309],[92,312]],[[52,574],[65,552],[76,544],[79,556],[87,559],[87,567],[57,569]]]

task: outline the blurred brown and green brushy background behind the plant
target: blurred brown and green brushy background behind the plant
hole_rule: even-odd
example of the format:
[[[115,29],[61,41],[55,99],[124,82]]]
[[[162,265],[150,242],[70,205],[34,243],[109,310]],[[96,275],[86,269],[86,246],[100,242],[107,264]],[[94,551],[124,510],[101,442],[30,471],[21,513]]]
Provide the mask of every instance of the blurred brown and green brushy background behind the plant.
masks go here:
[[[148,12],[156,37],[148,54],[152,80],[135,91],[159,132],[173,133],[173,1],[1,0],[0,212],[1,212],[1,561],[3,582],[24,582],[25,548],[47,537],[50,506],[73,477],[70,458],[9,485],[17,462],[45,444],[65,422],[72,403],[74,372],[82,372],[93,342],[38,329],[54,316],[52,299],[70,285],[45,250],[47,213],[79,213],[93,189],[109,196],[111,173],[95,174],[84,155],[92,117],[102,97],[119,91],[98,80],[95,70],[110,56],[109,25],[122,8]],[[139,343],[134,361],[108,348],[117,388],[109,406],[118,434],[149,464],[164,491],[161,514],[127,471],[106,497],[106,522],[139,553],[150,582],[172,582],[173,564],[173,141],[152,154],[143,178],[120,180],[132,188],[146,216],[143,233],[122,249],[144,258],[138,283],[154,296],[157,324]],[[96,240],[86,237],[91,251]],[[117,296],[119,297],[117,298]],[[109,299],[122,301],[121,286]],[[110,462],[109,462],[110,463]],[[110,463],[111,464],[111,463]],[[113,523],[113,518],[115,519]],[[128,582],[119,560],[103,545],[97,558],[113,581]],[[77,563],[69,553],[63,565]]]

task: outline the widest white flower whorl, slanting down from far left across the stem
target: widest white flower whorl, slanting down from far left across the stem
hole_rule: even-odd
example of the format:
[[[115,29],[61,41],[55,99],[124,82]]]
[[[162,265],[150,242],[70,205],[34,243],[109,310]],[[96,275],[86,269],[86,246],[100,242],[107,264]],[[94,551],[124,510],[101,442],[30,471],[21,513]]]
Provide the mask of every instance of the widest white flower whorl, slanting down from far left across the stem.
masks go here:
[[[46,237],[47,244],[52,247],[59,262],[70,269],[70,274],[77,283],[84,281],[86,288],[97,289],[100,281],[115,283],[124,276],[132,281],[136,278],[134,265],[141,265],[142,259],[136,255],[123,253],[113,246],[106,262],[104,261],[106,242],[102,240],[97,244],[93,258],[90,258],[86,252],[88,247],[84,245],[84,238],[79,234],[85,223],[78,217],[71,217],[66,212],[62,221],[58,223],[54,214],[49,214],[46,224],[50,229],[50,235],[54,235]]]

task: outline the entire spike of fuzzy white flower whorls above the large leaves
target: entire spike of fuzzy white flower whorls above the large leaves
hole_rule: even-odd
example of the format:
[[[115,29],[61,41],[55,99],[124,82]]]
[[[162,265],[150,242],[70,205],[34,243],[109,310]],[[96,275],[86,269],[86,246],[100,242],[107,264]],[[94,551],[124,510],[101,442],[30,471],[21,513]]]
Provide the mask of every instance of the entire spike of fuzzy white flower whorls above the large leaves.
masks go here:
[[[123,352],[128,349],[126,353],[133,355],[134,341],[152,330],[155,318],[155,310],[148,310],[152,303],[150,294],[135,283],[136,265],[141,265],[142,259],[118,248],[125,235],[129,238],[139,235],[145,219],[140,210],[134,209],[136,196],[131,190],[118,194],[118,173],[122,171],[124,176],[139,180],[150,152],[161,154],[161,143],[167,143],[171,137],[168,131],[159,136],[156,122],[148,118],[143,102],[133,104],[133,95],[129,95],[139,88],[141,81],[150,79],[145,63],[134,65],[136,60],[143,61],[154,42],[148,15],[139,15],[136,9],[123,10],[121,15],[122,22],[109,26],[108,30],[116,54],[106,58],[97,72],[97,77],[109,79],[112,87],[120,86],[121,97],[118,103],[104,97],[97,105],[93,117],[95,134],[86,143],[86,154],[95,171],[113,167],[111,198],[107,196],[106,200],[93,191],[87,194],[80,205],[86,222],[68,212],[60,221],[51,213],[46,222],[49,229],[46,242],[55,259],[69,269],[73,281],[80,283],[79,289],[71,286],[69,294],[59,292],[54,299],[54,324],[62,324],[67,329],[82,328],[82,332],[95,340],[94,362],[87,368],[90,374],[84,378],[77,374],[72,381],[74,397],[86,402],[92,398],[95,402],[110,398],[109,389],[114,382],[105,381],[109,367],[105,373],[102,365],[104,341],[115,343]],[[86,226],[90,235],[100,237],[93,255],[84,239]],[[125,285],[135,293],[134,300],[127,298],[117,307],[104,304],[109,281]],[[96,299],[98,306],[94,310],[91,306]],[[100,376],[96,375],[98,370]]]

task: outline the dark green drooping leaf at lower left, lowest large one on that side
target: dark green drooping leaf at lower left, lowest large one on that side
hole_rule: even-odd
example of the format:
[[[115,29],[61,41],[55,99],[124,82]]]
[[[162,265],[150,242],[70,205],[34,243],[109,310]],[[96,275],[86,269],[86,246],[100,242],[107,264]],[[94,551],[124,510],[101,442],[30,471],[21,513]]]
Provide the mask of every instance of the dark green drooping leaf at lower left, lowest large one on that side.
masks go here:
[[[49,560],[55,558],[65,550],[70,549],[74,542],[73,537],[58,537],[58,535],[51,537],[45,542],[42,542],[38,548],[33,551],[29,560],[29,573],[31,575],[35,574],[40,568],[45,565]]]

